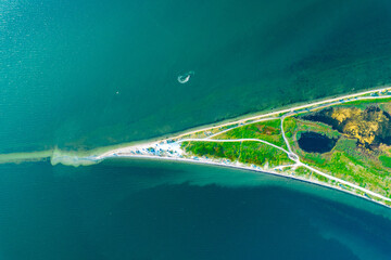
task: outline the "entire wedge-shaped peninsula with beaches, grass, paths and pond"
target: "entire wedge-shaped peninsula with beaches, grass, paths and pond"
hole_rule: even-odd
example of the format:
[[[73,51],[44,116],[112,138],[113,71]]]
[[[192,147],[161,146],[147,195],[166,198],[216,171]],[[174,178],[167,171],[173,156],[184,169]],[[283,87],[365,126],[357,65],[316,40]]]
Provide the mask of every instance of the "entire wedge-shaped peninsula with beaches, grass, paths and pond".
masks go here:
[[[391,87],[328,99],[115,148],[113,157],[249,169],[349,192],[391,207]]]

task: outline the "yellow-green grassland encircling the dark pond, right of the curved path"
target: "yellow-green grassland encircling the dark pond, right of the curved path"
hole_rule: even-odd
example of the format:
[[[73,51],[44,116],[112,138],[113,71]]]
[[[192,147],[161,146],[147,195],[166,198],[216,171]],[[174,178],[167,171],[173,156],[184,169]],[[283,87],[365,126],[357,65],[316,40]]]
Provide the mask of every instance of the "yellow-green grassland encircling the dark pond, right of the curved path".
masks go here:
[[[333,150],[325,154],[305,153],[299,147],[294,135],[289,138],[293,152],[303,162],[381,195],[391,195],[391,172],[387,168],[384,156],[378,158],[375,152],[357,147],[356,139],[349,139],[325,123],[294,120],[297,122],[294,135],[300,131],[315,131],[329,138],[339,136]]]

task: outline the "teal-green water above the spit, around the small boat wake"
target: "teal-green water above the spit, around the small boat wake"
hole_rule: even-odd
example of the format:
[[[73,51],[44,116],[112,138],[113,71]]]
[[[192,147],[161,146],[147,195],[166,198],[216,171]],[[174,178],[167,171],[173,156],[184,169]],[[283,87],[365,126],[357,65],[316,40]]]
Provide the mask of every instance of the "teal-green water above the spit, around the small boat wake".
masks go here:
[[[90,150],[389,83],[390,5],[3,1],[0,153]]]

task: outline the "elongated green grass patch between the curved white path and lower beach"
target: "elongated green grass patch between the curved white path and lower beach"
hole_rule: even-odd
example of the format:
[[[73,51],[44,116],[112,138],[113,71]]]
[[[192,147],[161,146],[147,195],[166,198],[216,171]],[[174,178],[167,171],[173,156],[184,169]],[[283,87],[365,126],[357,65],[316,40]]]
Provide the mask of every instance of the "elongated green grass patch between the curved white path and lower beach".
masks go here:
[[[227,158],[231,161],[276,167],[291,164],[287,154],[273,146],[258,142],[184,142],[182,148],[195,156]]]

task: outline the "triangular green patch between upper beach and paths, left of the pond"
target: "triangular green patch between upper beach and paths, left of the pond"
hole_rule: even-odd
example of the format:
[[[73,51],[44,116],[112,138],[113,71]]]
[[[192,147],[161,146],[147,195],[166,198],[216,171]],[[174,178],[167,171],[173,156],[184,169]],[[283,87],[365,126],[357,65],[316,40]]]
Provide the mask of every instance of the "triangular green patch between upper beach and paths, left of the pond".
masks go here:
[[[261,139],[278,146],[286,147],[281,135],[280,122],[279,119],[254,122],[235,128],[216,135],[214,139]]]

